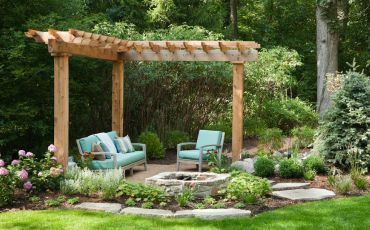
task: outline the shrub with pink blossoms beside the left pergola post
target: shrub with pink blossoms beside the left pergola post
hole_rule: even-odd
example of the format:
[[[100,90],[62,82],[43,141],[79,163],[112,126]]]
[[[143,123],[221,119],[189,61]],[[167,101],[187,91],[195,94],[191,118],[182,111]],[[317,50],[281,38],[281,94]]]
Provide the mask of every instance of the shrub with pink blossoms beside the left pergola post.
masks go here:
[[[59,189],[63,168],[57,163],[54,145],[40,159],[32,152],[19,150],[19,159],[6,164],[0,159],[0,207],[11,202],[15,189],[27,193]]]

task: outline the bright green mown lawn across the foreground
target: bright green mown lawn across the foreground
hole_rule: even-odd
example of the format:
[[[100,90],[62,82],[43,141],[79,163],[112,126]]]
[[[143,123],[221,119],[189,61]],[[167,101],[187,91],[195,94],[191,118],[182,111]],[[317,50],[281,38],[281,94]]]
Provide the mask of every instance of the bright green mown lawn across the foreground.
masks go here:
[[[0,229],[370,229],[370,196],[308,202],[222,221],[60,209],[7,212],[0,214]]]

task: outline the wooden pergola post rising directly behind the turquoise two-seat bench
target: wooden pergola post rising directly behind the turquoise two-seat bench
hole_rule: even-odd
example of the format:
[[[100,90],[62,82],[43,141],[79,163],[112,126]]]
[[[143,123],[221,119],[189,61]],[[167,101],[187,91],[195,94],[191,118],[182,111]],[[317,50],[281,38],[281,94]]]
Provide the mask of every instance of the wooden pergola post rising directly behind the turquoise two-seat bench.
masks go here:
[[[118,136],[123,135],[123,81],[123,60],[114,61],[112,70],[112,130],[116,131]]]

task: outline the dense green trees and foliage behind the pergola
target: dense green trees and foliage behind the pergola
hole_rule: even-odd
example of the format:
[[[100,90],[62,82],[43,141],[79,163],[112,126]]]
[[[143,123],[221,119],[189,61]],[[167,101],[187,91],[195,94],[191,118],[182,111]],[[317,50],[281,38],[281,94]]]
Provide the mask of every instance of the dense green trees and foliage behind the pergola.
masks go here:
[[[284,132],[316,117],[315,1],[240,0],[241,40],[262,44],[260,61],[246,66],[245,133],[261,127]],[[342,31],[340,66],[368,59],[369,8],[353,1]],[[127,39],[231,38],[228,0],[0,0],[0,152],[42,152],[53,139],[53,60],[45,45],[24,36],[28,28],[76,28]],[[70,143],[110,129],[111,63],[70,60]],[[229,127],[231,66],[227,63],[125,65],[125,132],[148,127],[195,138],[199,128]],[[300,99],[298,99],[300,98]],[[220,121],[222,124],[220,124]],[[302,124],[303,123],[303,124]],[[256,125],[258,124],[258,125]]]

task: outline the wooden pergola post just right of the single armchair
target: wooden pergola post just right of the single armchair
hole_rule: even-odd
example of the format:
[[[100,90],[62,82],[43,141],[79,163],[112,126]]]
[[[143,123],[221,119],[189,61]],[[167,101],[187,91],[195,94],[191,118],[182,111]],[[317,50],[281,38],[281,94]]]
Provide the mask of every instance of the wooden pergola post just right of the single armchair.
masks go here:
[[[240,159],[243,148],[243,92],[244,62],[233,63],[233,123],[232,123],[232,160]]]

